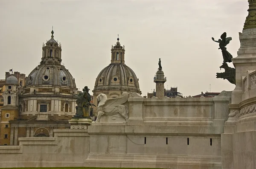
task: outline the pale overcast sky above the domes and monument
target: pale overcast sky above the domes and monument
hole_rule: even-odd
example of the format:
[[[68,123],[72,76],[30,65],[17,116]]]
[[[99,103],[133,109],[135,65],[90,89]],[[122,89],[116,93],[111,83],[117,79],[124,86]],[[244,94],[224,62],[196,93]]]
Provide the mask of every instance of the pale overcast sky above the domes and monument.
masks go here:
[[[209,92],[210,84],[211,92],[233,90],[215,78],[223,59],[211,37],[226,31],[233,38],[227,50],[236,57],[247,9],[247,0],[0,0],[0,79],[11,68],[29,75],[53,25],[62,61],[80,89],[93,89],[119,34],[143,96],[155,88],[159,58],[165,87],[184,96]]]

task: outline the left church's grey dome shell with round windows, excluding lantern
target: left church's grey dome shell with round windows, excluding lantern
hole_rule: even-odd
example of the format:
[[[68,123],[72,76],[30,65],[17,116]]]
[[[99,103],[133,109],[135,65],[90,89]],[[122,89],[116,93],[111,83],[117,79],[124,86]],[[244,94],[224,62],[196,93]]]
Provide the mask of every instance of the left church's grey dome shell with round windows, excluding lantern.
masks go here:
[[[75,79],[63,65],[38,65],[29,73],[27,85],[58,85],[76,88]]]

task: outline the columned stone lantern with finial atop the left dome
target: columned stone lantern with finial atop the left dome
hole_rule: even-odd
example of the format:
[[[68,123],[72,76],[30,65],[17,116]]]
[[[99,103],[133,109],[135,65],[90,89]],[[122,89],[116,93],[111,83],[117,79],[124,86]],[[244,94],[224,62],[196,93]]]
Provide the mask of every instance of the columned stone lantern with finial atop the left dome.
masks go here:
[[[46,44],[43,43],[43,53],[40,65],[44,64],[56,64],[61,65],[61,43],[58,45],[58,42],[53,38],[54,31],[51,32],[52,36]]]

